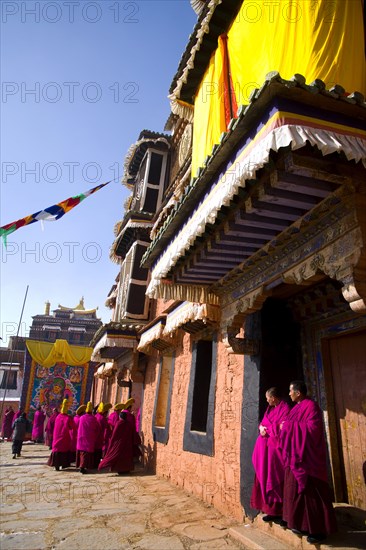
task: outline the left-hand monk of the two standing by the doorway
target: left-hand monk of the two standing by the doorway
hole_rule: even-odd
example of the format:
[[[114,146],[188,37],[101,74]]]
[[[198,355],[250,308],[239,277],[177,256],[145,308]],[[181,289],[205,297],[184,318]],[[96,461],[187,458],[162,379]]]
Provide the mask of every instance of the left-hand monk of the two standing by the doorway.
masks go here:
[[[277,388],[269,388],[266,399],[268,407],[259,425],[252,456],[255,478],[250,505],[267,514],[263,521],[280,523],[285,477],[279,448],[280,424],[288,416],[290,407],[280,399]]]

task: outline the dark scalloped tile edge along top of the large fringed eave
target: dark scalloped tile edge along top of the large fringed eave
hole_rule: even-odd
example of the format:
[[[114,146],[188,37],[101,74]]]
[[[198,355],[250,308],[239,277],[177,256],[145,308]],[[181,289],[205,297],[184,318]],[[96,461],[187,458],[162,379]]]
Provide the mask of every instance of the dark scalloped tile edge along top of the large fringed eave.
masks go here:
[[[198,201],[212,185],[212,181],[217,177],[222,165],[227,162],[233,150],[238,147],[245,136],[250,135],[253,126],[258,123],[258,120],[261,120],[275,98],[296,101],[304,105],[306,109],[317,108],[349,116],[355,121],[365,120],[366,103],[362,94],[355,92],[345,97],[344,93],[344,89],[338,85],[331,90],[326,90],[321,81],[307,85],[305,78],[301,75],[294,75],[292,79],[284,80],[277,72],[269,73],[263,86],[260,89],[255,89],[251,94],[249,105],[239,109],[238,117],[231,121],[228,131],[222,134],[220,143],[213,147],[212,154],[206,158],[204,167],[199,170],[198,176],[191,180],[190,184],[185,187],[184,193],[175,202],[169,217],[159,227],[159,231],[154,236],[143,258],[144,265],[150,267],[161,251],[167,247],[171,238],[190,217]],[[296,147],[298,146],[296,145]],[[341,151],[340,145],[338,150]],[[322,153],[327,154],[327,151],[324,149]],[[256,169],[263,166],[265,162],[260,165],[255,160],[250,160],[250,163],[249,168],[252,167],[252,170],[248,170],[248,173],[242,174],[242,176],[254,178]]]

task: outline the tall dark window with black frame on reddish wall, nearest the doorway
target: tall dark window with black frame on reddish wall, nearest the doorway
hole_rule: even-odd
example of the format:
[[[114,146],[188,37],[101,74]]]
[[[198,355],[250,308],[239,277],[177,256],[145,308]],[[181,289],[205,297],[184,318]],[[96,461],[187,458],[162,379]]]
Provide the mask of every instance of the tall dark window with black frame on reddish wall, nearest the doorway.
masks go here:
[[[213,455],[216,345],[215,339],[193,345],[183,440],[185,451],[209,456]]]

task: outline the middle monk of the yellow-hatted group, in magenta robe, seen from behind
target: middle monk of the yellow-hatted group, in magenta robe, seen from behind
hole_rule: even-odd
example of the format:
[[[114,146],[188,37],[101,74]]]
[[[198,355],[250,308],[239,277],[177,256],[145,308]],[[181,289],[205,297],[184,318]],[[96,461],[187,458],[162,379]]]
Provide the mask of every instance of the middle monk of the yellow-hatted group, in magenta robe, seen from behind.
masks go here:
[[[80,468],[82,474],[86,474],[87,470],[93,470],[95,465],[95,445],[100,428],[92,413],[93,405],[89,401],[85,414],[79,420],[76,440],[76,467]]]

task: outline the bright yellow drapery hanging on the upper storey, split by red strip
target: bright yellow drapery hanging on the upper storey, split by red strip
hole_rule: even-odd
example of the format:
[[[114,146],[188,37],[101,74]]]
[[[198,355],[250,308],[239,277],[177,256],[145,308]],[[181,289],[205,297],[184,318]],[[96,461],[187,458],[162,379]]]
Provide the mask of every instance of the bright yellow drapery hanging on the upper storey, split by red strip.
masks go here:
[[[361,0],[256,0],[242,3],[227,33],[231,77],[238,105],[249,102],[267,73],[290,79],[300,73],[329,89],[366,95]],[[220,40],[194,104],[192,176],[226,130]]]

